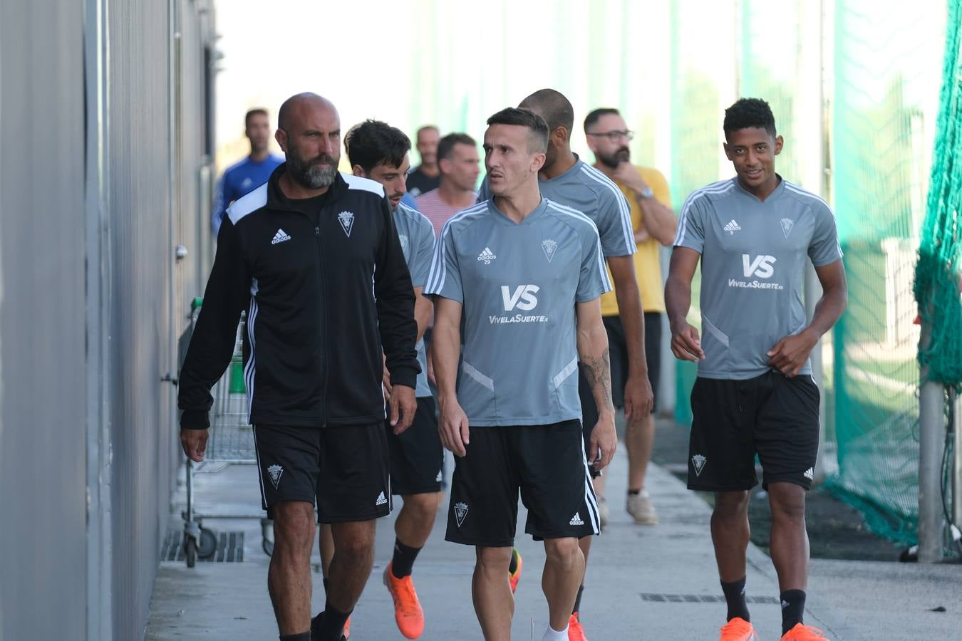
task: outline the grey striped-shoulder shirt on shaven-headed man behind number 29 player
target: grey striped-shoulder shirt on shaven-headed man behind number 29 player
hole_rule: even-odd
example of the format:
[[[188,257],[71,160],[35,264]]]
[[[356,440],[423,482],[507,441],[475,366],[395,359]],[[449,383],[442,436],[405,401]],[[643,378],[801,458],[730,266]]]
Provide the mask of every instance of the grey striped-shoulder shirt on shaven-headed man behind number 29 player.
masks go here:
[[[538,189],[550,201],[585,214],[595,223],[601,236],[601,251],[605,257],[629,256],[638,251],[631,229],[631,210],[624,194],[611,179],[580,160],[560,176],[549,180],[538,179]],[[477,202],[491,198],[488,177],[478,189]]]

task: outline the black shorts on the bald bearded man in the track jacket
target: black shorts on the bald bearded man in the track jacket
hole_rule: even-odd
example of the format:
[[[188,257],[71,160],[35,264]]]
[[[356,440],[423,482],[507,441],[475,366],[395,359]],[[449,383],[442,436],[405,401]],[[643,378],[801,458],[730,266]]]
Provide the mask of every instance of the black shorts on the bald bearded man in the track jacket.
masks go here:
[[[327,428],[254,427],[261,500],[316,503],[318,523],[369,521],[391,513],[384,423]]]

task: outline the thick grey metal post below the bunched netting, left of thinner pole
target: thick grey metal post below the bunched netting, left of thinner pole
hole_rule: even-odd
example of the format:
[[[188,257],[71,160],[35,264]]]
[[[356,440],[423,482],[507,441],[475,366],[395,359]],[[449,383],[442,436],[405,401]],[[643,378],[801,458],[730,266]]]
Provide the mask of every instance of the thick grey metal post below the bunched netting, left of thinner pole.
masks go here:
[[[931,339],[931,325],[923,320],[923,350]],[[942,455],[945,447],[945,390],[928,380],[928,365],[920,372],[919,390],[919,562],[942,560]]]

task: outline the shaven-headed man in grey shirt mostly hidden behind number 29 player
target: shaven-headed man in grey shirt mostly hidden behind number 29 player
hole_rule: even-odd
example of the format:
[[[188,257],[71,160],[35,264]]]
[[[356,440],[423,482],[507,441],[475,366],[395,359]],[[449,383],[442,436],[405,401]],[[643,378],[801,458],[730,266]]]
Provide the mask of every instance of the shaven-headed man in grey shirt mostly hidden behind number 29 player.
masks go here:
[[[540,89],[521,101],[519,107],[534,111],[544,118],[548,126],[548,144],[544,166],[538,173],[538,187],[544,198],[559,205],[580,211],[595,223],[601,236],[601,250],[608,263],[621,322],[624,325],[628,351],[628,376],[624,384],[623,400],[616,390],[616,401],[624,406],[624,418],[629,424],[645,419],[651,411],[652,393],[647,377],[645,361],[645,325],[642,322],[642,305],[635,278],[635,239],[631,230],[628,203],[620,189],[602,172],[580,160],[571,152],[571,131],[574,127],[574,110],[562,93],[554,89]],[[488,178],[478,193],[478,202],[491,198]],[[591,431],[598,418],[598,410],[591,393],[591,385],[585,379],[583,363],[578,368],[578,387],[581,397],[582,426],[586,450],[591,441]],[[589,461],[591,462],[591,461]],[[595,472],[595,477],[599,474]],[[607,521],[607,505],[598,504],[601,526]],[[581,550],[588,558],[591,536],[581,538]],[[517,551],[512,557],[509,572],[513,584],[517,584],[519,568]],[[574,604],[569,625],[570,639],[582,639],[584,633],[578,618],[582,586]]]

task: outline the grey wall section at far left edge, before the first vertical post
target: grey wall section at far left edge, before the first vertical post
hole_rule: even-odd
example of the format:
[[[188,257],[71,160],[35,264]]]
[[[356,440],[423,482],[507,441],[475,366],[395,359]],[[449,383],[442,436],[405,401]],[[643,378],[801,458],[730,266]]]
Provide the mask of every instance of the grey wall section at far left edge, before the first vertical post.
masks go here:
[[[6,641],[85,625],[77,598],[86,593],[87,554],[82,15],[66,1],[0,2]]]

